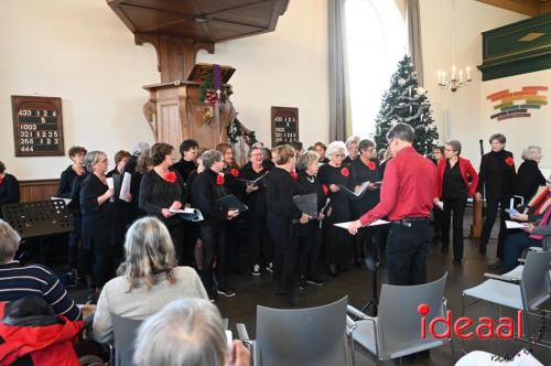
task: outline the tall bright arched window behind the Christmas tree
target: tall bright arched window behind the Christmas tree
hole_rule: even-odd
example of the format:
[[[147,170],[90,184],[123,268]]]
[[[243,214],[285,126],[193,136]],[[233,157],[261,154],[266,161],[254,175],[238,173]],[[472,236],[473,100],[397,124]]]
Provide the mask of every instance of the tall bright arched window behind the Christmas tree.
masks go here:
[[[346,50],[354,134],[371,137],[383,92],[407,50],[393,0],[346,0]]]

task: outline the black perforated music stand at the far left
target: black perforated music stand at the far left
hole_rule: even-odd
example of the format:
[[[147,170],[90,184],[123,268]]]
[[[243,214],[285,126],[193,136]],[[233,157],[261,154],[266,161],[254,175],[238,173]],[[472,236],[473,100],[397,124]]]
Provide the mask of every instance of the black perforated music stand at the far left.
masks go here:
[[[74,230],[71,213],[63,200],[12,203],[2,206],[4,220],[21,239],[39,238],[41,262],[44,258],[44,237]]]

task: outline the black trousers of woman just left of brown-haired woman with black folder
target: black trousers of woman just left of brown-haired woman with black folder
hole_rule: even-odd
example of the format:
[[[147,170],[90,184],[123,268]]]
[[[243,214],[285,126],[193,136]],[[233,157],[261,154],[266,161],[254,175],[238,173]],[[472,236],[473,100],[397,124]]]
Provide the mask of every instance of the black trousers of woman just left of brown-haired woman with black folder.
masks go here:
[[[250,215],[246,218],[248,235],[248,266],[250,269],[255,265],[266,267],[272,261],[273,245],[268,235],[266,216]]]

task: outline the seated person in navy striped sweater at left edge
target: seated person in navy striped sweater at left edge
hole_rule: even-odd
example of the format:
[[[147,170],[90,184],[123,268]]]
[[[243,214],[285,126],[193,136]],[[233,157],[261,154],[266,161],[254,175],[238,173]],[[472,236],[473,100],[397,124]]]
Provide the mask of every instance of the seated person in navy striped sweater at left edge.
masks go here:
[[[44,299],[57,315],[75,321],[80,310],[71,300],[60,279],[45,266],[21,266],[14,260],[21,238],[8,223],[0,219],[0,301],[26,297]]]

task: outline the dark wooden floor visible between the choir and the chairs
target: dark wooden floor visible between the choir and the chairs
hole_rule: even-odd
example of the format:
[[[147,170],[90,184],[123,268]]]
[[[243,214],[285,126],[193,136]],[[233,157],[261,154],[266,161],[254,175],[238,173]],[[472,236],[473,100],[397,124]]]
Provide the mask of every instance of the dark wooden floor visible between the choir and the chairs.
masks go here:
[[[465,222],[469,222],[465,219]],[[467,229],[465,228],[465,233]],[[497,227],[495,227],[494,236],[497,236]],[[446,298],[449,300],[449,309],[452,310],[454,316],[461,314],[461,293],[463,289],[476,286],[483,281],[484,272],[487,272],[488,263],[495,260],[496,241],[490,240],[488,245],[488,255],[482,256],[478,254],[478,243],[465,238],[465,252],[463,265],[457,266],[452,263],[452,254],[442,254],[440,245],[432,243],[429,252],[429,280],[436,280],[444,272],[449,272],[446,286]],[[324,274],[324,273],[323,273]],[[386,281],[386,270],[379,270],[379,283]],[[348,295],[349,303],[355,306],[364,306],[371,299],[371,274],[367,270],[353,268],[346,273],[341,274],[336,279],[329,279],[324,276],[326,284],[323,288],[310,287],[304,290],[299,290],[300,298],[305,306],[322,305],[336,301],[345,295]],[[288,308],[281,300],[271,294],[271,276],[262,273],[260,277],[249,274],[233,276],[230,279],[233,289],[237,292],[234,298],[220,298],[216,305],[220,310],[223,317],[229,320],[229,326],[235,331],[235,323],[245,323],[251,337],[255,336],[255,320],[256,306],[264,305],[271,308]],[[380,288],[379,288],[380,290]],[[76,301],[83,301],[85,298],[84,290],[72,290],[71,294]],[[551,303],[547,303],[547,309],[551,309]],[[467,315],[478,319],[479,316],[490,316],[489,306],[487,304],[476,304],[469,308]],[[504,309],[504,316],[511,316],[512,311]],[[551,331],[548,330],[545,338],[551,338]],[[525,344],[514,341],[467,341],[465,342],[466,351],[482,349],[491,352],[501,356],[511,355],[525,347]],[[456,357],[462,355],[462,344],[455,341]],[[533,348],[533,355],[544,365],[551,365],[551,352],[541,347]],[[356,346],[356,365],[375,365],[375,358]],[[395,362],[388,362],[385,365],[393,365]],[[398,360],[396,364],[399,364]],[[450,365],[454,364],[450,346],[443,346],[431,352],[429,359],[424,359],[417,365]],[[415,365],[415,364],[413,364]]]

